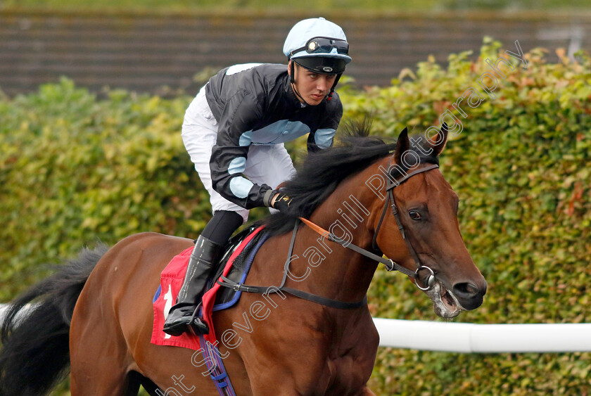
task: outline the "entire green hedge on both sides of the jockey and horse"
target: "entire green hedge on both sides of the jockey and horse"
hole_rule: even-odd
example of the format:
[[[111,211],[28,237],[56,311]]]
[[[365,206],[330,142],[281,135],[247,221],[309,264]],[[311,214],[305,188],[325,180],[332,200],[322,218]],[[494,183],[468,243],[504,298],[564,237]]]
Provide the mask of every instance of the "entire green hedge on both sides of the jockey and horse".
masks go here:
[[[422,134],[478,87],[489,71],[484,60],[504,50],[516,51],[487,39],[474,62],[454,54],[447,69],[428,60],[391,87],[345,86],[345,117],[372,113],[383,136],[404,126]],[[527,69],[499,80],[495,100],[462,102],[464,130],[441,158],[461,198],[464,240],[489,285],[483,306],[457,321],[591,321],[591,60],[581,53],[577,62],[561,56],[548,64],[542,49],[527,59]],[[191,237],[210,217],[179,134],[191,98],[107,96],[63,79],[37,94],[0,97],[0,300],[45,276],[41,263],[97,239],[113,244],[139,231]],[[291,146],[296,160],[302,147]],[[377,317],[437,320],[400,274],[379,270],[369,299]],[[370,385],[379,395],[582,395],[591,392],[590,358],[381,348]]]

